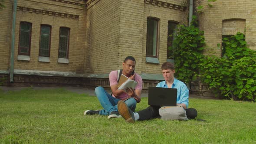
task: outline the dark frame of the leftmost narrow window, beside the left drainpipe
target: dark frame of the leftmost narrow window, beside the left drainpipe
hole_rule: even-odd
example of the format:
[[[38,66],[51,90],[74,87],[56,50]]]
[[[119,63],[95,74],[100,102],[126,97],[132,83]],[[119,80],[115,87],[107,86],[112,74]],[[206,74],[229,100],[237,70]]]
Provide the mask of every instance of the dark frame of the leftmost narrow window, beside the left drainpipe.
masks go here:
[[[24,49],[25,47],[20,46],[20,35],[21,35],[21,24],[27,23],[30,24],[30,37],[29,37],[29,47],[28,47],[28,53],[20,52],[21,49]],[[32,35],[32,23],[26,22],[26,21],[20,21],[20,33],[19,33],[19,43],[18,43],[18,55],[24,55],[24,56],[30,56],[30,48],[31,48],[31,35]]]

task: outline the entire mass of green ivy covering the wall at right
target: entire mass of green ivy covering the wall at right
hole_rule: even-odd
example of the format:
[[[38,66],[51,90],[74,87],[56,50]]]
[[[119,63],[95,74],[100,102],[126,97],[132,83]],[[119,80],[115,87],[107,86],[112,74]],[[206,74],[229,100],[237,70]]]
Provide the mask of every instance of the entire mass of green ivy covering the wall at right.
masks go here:
[[[219,97],[255,101],[256,51],[247,47],[245,35],[223,38],[223,57],[203,56],[203,31],[195,25],[193,16],[190,26],[178,26],[170,48],[174,52],[175,77],[187,85],[200,78]]]

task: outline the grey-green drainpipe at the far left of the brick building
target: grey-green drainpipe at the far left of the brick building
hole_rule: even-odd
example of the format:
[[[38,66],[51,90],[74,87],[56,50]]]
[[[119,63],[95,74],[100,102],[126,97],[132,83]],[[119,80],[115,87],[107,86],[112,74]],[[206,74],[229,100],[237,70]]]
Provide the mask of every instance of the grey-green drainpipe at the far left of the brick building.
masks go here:
[[[14,71],[14,43],[15,43],[15,25],[16,25],[17,0],[13,1],[13,26],[12,26],[12,43],[11,43],[11,63],[10,63],[10,82],[13,82]]]

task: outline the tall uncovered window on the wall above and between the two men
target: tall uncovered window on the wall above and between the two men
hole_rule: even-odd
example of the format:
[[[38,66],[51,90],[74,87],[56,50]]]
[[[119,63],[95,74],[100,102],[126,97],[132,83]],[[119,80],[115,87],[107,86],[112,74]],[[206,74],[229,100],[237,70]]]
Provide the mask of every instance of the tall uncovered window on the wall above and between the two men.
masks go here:
[[[158,49],[158,19],[148,17],[146,56],[157,57]]]

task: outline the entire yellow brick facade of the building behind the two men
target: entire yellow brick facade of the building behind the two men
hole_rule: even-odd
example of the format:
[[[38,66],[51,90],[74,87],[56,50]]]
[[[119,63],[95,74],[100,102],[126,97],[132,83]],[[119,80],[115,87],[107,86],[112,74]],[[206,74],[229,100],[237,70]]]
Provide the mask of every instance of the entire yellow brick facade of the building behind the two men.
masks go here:
[[[18,0],[18,7],[25,7],[26,10],[20,9],[16,14],[14,69],[104,74],[121,69],[125,57],[131,55],[137,61],[136,72],[160,73],[161,64],[167,60],[168,21],[186,24],[188,16],[188,8],[170,8],[166,3],[181,6],[183,2],[184,0],[87,0],[86,3],[81,0]],[[197,0],[196,3],[198,2],[200,5],[207,5],[207,0]],[[3,29],[0,32],[0,70],[8,70],[10,67],[12,1],[5,0],[4,4],[7,8],[1,11],[3,18],[0,24]],[[87,7],[82,7],[82,4],[87,4]],[[200,29],[204,31],[207,43],[204,53],[220,56],[217,43],[221,43],[223,28],[230,28],[232,25],[239,29],[243,29],[245,25],[246,41],[251,49],[256,49],[256,1],[217,0],[212,4],[213,8],[205,7],[199,16]],[[40,12],[36,13],[35,10]],[[46,14],[41,10],[45,10]],[[47,11],[65,16],[49,15]],[[66,14],[74,15],[75,18],[67,18]],[[146,62],[148,16],[160,19],[160,64]],[[29,62],[17,60],[20,21],[32,23]],[[50,62],[38,62],[41,24],[52,26]],[[60,26],[70,28],[69,64],[57,62]]]

